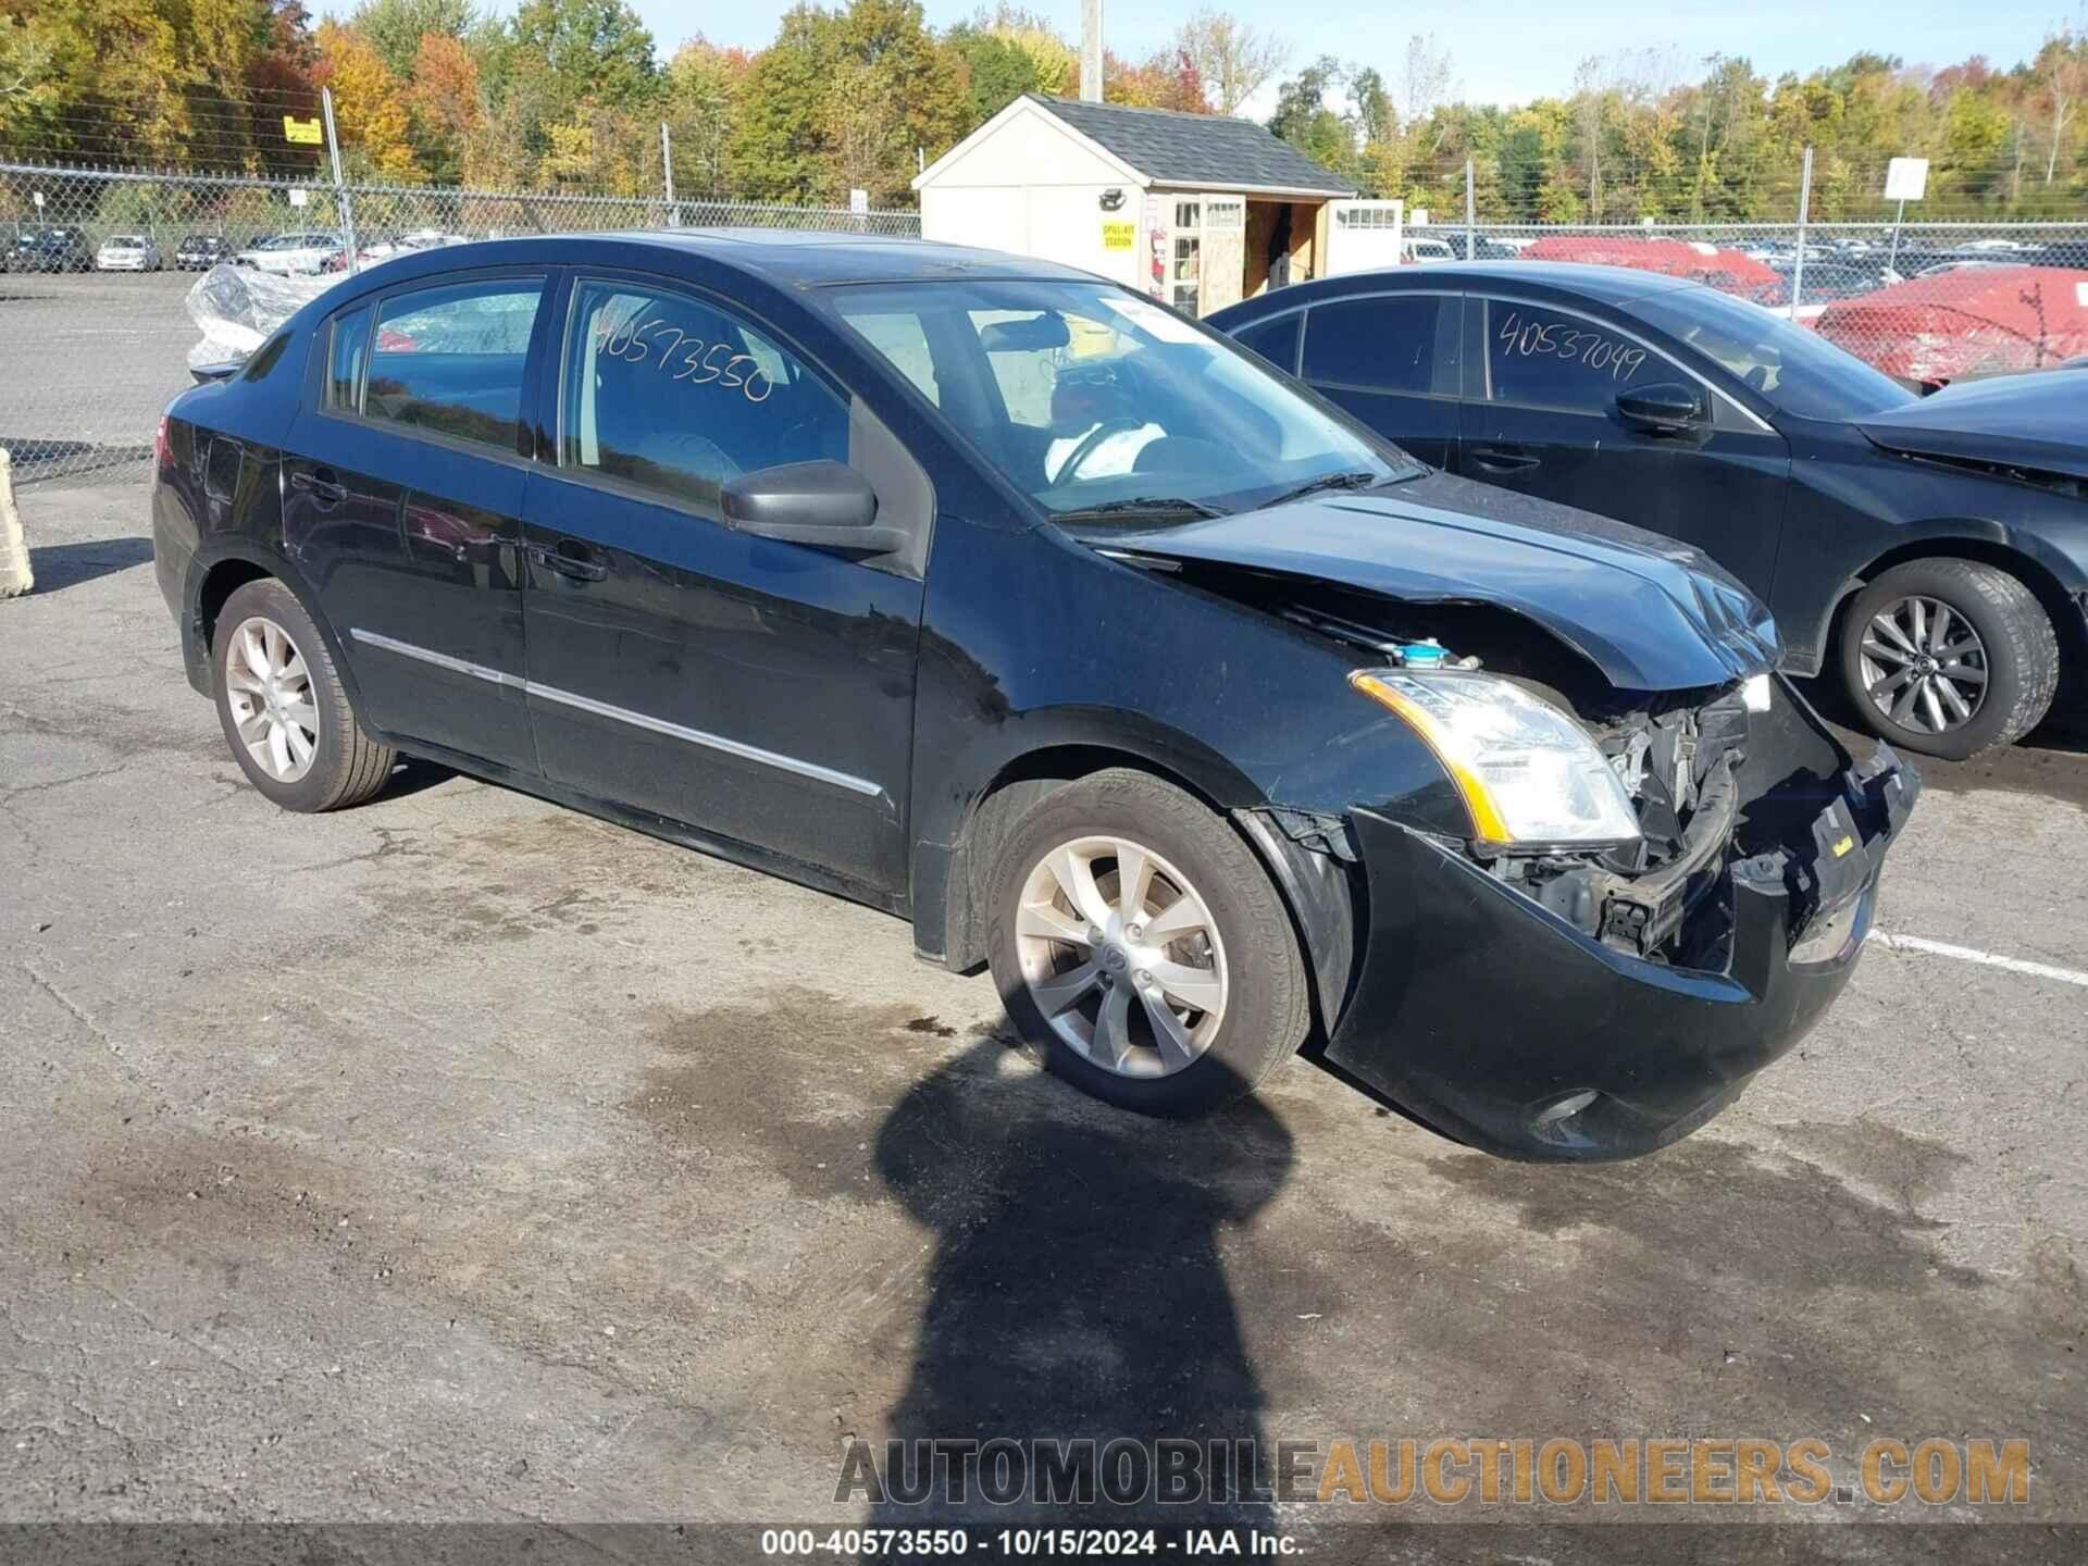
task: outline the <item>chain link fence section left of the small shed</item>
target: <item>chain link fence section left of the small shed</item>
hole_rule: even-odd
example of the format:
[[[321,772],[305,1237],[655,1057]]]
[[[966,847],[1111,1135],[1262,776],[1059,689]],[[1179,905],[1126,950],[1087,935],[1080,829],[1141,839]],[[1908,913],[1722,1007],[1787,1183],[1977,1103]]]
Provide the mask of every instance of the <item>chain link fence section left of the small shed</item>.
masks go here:
[[[188,288],[221,261],[324,278],[466,240],[714,226],[917,236],[921,215],[0,163],[0,447],[17,484],[146,476],[198,338]]]

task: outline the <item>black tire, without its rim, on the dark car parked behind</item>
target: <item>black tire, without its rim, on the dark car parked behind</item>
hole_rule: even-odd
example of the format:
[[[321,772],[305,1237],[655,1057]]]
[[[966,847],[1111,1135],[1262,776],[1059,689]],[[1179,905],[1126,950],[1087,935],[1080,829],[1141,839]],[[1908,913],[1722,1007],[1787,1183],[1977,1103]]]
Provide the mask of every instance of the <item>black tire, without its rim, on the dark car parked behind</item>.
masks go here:
[[[1986,689],[1969,720],[1933,733],[1896,722],[1871,702],[1862,677],[1862,639],[1871,618],[1906,597],[1950,608],[1979,635]],[[2044,718],[2059,691],[2059,637],[2036,595],[2015,576],[1973,560],[1911,560],[1894,566],[1850,601],[1842,618],[1842,685],[1858,720],[1888,743],[1967,760],[2013,745]]]

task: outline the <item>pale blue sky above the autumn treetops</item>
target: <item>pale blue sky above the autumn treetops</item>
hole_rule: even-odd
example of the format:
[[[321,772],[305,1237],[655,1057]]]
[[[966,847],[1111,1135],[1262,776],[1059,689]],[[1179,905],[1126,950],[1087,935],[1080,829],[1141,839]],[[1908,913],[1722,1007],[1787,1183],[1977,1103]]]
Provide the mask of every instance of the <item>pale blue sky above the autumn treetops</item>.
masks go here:
[[[929,21],[969,17],[977,0],[925,0]],[[785,0],[633,0],[666,54],[691,33],[758,48],[775,38]],[[1105,0],[1105,33],[1117,54],[1157,48],[1194,0]],[[2073,0],[2082,6],[2084,0]],[[355,0],[322,0],[345,15]],[[505,6],[497,6],[505,8]],[[1031,0],[1073,38],[1079,0]],[[1282,31],[1292,61],[1315,54],[1359,58],[1393,75],[1409,33],[1432,31],[1449,50],[1462,96],[1524,102],[1572,90],[1585,54],[1672,48],[1685,65],[1712,52],[1746,54],[1762,75],[1833,65],[1858,50],[1900,54],[1911,65],[1952,65],[1986,54],[1996,67],[2036,52],[2067,0],[1485,0],[1449,8],[1395,10],[1359,0],[1234,0],[1234,15]]]

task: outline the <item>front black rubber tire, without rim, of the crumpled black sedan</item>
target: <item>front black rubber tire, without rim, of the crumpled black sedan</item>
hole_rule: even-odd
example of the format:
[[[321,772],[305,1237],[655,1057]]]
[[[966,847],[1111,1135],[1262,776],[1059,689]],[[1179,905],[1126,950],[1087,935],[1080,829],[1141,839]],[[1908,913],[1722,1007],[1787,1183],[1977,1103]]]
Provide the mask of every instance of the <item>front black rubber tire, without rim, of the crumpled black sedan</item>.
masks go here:
[[[1023,977],[1015,938],[1023,885],[1046,854],[1090,835],[1128,837],[1180,867],[1217,925],[1226,1009],[1203,1054],[1171,1075],[1119,1075],[1088,1061],[1052,1031]],[[1311,1000],[1290,912],[1232,825],[1182,789],[1128,768],[1094,773],[1044,796],[990,852],[986,940],[994,986],[1021,1036],[1084,1092],[1144,1115],[1203,1115],[1244,1098],[1305,1042]]]

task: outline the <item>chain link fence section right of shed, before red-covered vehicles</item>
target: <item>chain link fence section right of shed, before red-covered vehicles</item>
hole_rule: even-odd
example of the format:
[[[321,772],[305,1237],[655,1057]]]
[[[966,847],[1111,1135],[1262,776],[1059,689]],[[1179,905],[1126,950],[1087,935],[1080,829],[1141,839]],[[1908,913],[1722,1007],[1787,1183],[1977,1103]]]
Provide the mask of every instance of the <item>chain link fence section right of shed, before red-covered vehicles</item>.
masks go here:
[[[2088,355],[2088,223],[1430,223],[1405,259],[1583,261],[1710,284],[1921,388]]]

